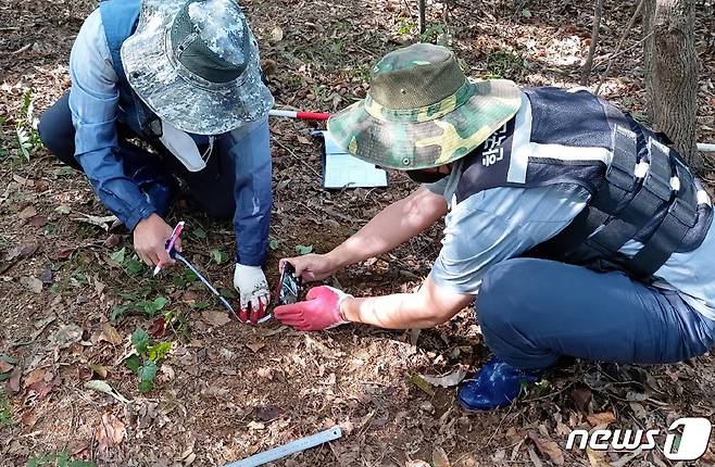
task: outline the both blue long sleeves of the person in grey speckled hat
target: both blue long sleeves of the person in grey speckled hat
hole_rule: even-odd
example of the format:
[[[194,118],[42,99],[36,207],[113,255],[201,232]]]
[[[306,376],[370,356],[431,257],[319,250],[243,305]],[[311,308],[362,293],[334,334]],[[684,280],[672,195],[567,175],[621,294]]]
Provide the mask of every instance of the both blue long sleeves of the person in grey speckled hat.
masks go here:
[[[117,157],[118,77],[104,36],[99,10],[83,24],[70,55],[70,110],[75,126],[75,157],[101,202],[129,230],[156,210],[124,172]],[[230,132],[219,150],[236,157],[237,262],[256,266],[265,261],[271,212],[271,149],[267,122],[247,124]],[[239,156],[240,152],[240,156]]]

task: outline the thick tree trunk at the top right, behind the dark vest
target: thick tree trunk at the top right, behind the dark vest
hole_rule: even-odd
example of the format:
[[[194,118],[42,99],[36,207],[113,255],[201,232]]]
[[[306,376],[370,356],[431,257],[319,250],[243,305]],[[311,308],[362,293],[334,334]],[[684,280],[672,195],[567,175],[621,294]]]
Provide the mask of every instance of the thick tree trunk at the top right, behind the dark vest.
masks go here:
[[[643,16],[649,116],[654,129],[666,134],[691,167],[698,169],[702,160],[695,150],[695,1],[645,0]]]

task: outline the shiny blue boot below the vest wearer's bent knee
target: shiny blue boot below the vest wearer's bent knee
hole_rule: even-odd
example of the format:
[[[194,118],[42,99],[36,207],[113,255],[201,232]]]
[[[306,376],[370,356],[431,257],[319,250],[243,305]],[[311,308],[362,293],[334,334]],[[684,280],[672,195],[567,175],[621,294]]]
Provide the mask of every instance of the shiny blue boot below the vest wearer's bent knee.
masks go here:
[[[474,377],[465,379],[457,400],[467,412],[491,411],[511,404],[524,382],[537,382],[541,371],[527,371],[492,357]]]

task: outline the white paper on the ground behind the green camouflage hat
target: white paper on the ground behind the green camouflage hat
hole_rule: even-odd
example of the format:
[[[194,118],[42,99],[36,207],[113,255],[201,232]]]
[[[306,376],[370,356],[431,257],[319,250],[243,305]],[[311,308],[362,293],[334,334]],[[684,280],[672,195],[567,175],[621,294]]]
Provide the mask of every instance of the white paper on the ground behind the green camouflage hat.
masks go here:
[[[323,187],[327,189],[387,187],[387,172],[346,152],[327,131]]]

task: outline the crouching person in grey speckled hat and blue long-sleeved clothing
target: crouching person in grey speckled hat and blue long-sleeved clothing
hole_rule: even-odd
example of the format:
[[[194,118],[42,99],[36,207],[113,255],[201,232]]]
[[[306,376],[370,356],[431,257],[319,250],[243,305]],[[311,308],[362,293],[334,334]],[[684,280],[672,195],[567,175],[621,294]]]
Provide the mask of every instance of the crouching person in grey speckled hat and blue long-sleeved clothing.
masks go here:
[[[205,213],[233,217],[239,316],[258,321],[269,301],[262,266],[274,101],[238,4],[102,1],[75,40],[70,75],[70,92],[40,119],[45,146],[87,175],[149,266],[174,263],[164,216],[178,180]]]

